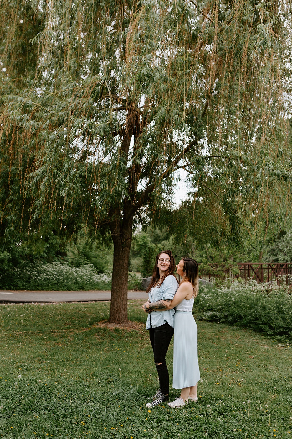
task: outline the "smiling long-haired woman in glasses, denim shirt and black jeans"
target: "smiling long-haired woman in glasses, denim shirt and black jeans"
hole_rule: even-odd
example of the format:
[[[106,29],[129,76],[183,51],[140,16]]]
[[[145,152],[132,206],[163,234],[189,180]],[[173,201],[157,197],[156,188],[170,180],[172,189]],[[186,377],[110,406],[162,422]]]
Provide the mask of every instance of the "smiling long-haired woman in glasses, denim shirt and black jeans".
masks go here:
[[[158,253],[153,269],[153,275],[147,293],[150,302],[162,301],[171,303],[178,289],[178,281],[174,276],[175,262],[170,250]],[[146,305],[144,303],[144,306]],[[153,401],[147,403],[147,407],[156,407],[160,403],[168,401],[169,377],[165,356],[171,337],[174,332],[174,309],[159,310],[157,313],[149,313],[146,329],[149,329],[150,342],[153,349],[154,363],[159,378],[159,390],[153,396]]]

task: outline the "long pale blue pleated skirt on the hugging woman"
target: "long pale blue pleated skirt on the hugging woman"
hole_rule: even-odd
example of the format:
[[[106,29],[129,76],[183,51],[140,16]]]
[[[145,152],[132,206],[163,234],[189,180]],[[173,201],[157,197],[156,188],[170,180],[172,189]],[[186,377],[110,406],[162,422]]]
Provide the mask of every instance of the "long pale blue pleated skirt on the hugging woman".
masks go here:
[[[174,389],[196,385],[200,379],[198,328],[192,312],[174,314],[173,379]]]

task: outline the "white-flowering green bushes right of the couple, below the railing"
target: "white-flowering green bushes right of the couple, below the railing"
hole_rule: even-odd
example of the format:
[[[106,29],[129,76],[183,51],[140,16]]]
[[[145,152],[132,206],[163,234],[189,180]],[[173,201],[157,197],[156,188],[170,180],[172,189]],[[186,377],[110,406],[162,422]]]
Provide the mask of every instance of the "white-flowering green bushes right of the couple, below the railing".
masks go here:
[[[278,339],[292,340],[290,282],[257,284],[249,280],[226,283],[220,288],[202,285],[197,298],[198,317],[230,325],[250,327]]]

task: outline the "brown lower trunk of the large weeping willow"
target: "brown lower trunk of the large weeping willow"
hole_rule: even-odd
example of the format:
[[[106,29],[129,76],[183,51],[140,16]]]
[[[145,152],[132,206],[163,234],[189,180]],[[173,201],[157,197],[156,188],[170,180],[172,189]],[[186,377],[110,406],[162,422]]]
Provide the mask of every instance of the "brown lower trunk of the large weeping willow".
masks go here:
[[[132,244],[133,218],[125,218],[120,224],[110,225],[114,243],[113,277],[110,299],[110,323],[128,321],[128,266]]]

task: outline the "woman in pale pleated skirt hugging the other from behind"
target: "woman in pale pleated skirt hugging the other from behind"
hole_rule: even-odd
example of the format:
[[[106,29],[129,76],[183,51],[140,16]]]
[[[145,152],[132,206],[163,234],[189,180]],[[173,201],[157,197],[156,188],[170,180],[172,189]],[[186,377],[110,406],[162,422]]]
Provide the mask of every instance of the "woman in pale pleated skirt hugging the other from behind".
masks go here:
[[[197,401],[197,386],[200,379],[197,325],[192,316],[194,298],[199,291],[199,266],[192,258],[182,258],[176,266],[177,274],[182,277],[173,300],[159,300],[147,303],[146,312],[168,310],[175,307],[174,314],[174,351],[173,381],[174,389],[181,389],[181,395],[175,401],[167,403],[179,408],[190,401]]]

